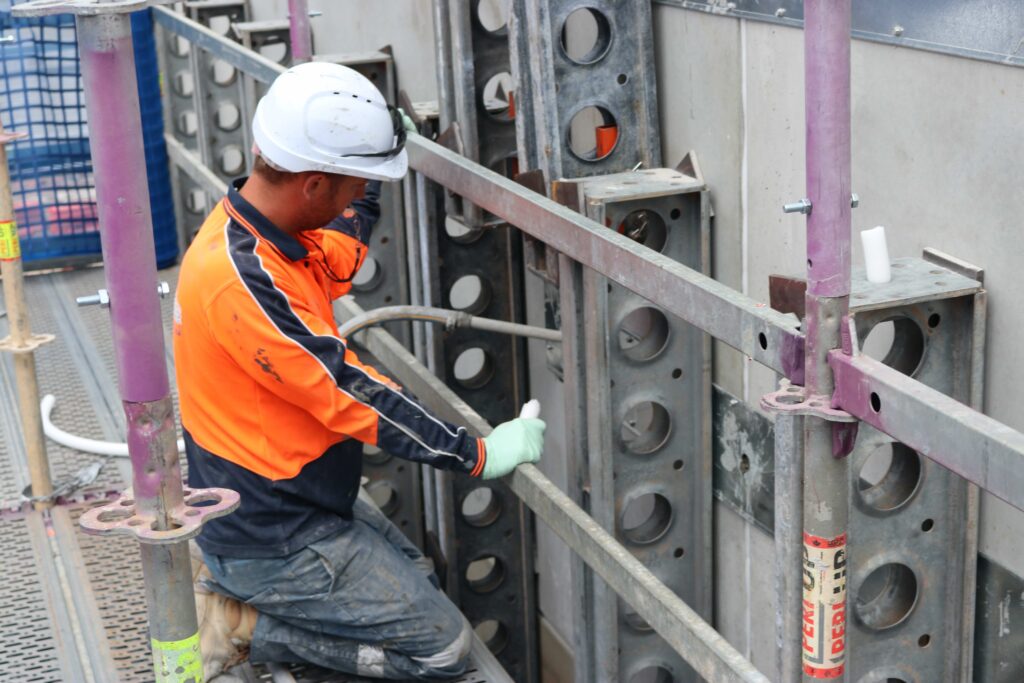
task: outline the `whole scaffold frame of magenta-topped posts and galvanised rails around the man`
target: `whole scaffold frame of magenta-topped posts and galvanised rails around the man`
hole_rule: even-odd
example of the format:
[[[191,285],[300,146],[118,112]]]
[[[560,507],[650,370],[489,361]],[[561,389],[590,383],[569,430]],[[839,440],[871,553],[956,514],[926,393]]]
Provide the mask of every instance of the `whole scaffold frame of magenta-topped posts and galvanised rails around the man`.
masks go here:
[[[806,88],[808,158],[807,321],[804,329],[788,315],[764,307],[697,270],[663,256],[604,225],[538,195],[487,168],[415,134],[410,135],[410,165],[418,173],[530,237],[567,255],[664,310],[700,328],[755,360],[784,375],[791,397],[770,394],[779,411],[776,449],[788,464],[787,477],[799,476],[803,462],[804,533],[795,527],[779,533],[783,560],[780,579],[807,567],[796,560],[806,551],[811,568],[824,577],[839,569],[846,550],[849,486],[847,463],[858,421],[901,441],[968,481],[1024,510],[1024,434],[859,353],[848,311],[850,294],[850,3],[807,0]],[[295,3],[296,5],[300,3]],[[231,492],[194,492],[182,487],[163,349],[156,285],[152,226],[144,207],[146,188],[141,159],[137,94],[134,89],[130,32],[123,12],[146,6],[143,0],[95,3],[26,3],[20,12],[79,13],[82,69],[90,121],[90,141],[97,169],[97,198],[103,226],[111,315],[121,392],[128,419],[133,466],[133,498],[96,508],[84,525],[94,531],[119,531],[141,543],[158,680],[175,677],[175,666],[195,672],[199,663],[191,582],[184,541],[199,527],[178,526],[183,511],[224,514],[237,496]],[[295,11],[293,9],[293,11]],[[104,13],[112,12],[112,13]],[[284,68],[216,36],[189,19],[156,7],[166,31],[177,34],[212,56],[257,81],[272,80]],[[204,189],[219,195],[224,183],[194,152],[178,147],[172,163]],[[143,255],[140,257],[139,255]],[[360,311],[343,301],[346,315]],[[131,334],[127,331],[131,330]],[[381,330],[357,335],[399,381],[441,417],[467,425],[478,434],[490,427],[470,407]],[[851,426],[852,425],[852,426]],[[591,458],[605,454],[591,454]],[[768,678],[714,628],[658,581],[608,530],[591,518],[532,465],[507,478],[511,489],[551,526],[584,562],[629,603],[703,678],[712,681],[763,682]],[[213,507],[193,507],[215,497]],[[791,502],[792,504],[792,502]],[[112,507],[122,511],[103,516]],[[799,506],[797,510],[799,510]],[[821,514],[825,508],[833,514]],[[792,511],[791,521],[797,510]],[[141,519],[145,523],[130,524]],[[188,519],[195,520],[195,517]],[[177,528],[175,528],[177,526]],[[133,529],[139,528],[140,531]],[[799,544],[799,546],[798,546]],[[856,549],[853,548],[856,552]],[[842,680],[845,649],[845,577],[803,586],[803,603],[826,615],[830,648],[822,661],[803,667],[783,663],[783,680],[820,675],[826,669]],[[793,582],[787,585],[792,587]],[[787,589],[792,594],[792,588]],[[791,596],[792,597],[792,596]],[[799,618],[795,604],[783,603],[783,616]],[[791,613],[792,612],[792,613]],[[812,626],[821,623],[814,617]],[[784,621],[784,620],[783,620]],[[792,622],[792,620],[791,620]],[[806,624],[805,624],[806,626]],[[813,654],[813,652],[812,652]],[[795,658],[793,653],[791,658]]]

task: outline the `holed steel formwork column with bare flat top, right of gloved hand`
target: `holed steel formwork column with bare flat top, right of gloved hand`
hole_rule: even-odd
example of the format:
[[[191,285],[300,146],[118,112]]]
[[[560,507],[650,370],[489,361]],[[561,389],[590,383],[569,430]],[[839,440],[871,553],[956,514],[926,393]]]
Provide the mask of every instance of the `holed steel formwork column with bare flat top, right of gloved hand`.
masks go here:
[[[710,270],[710,208],[701,179],[650,169],[573,184],[579,209],[595,221],[698,271]],[[590,514],[710,620],[711,339],[593,271],[585,271],[584,292]],[[644,670],[695,680],[643,620],[606,603],[597,600],[593,618],[617,612],[617,629],[598,628],[592,637],[601,641],[595,642],[599,650],[617,641],[618,680],[633,680]],[[607,676],[603,669],[612,666],[609,659],[596,671]]]

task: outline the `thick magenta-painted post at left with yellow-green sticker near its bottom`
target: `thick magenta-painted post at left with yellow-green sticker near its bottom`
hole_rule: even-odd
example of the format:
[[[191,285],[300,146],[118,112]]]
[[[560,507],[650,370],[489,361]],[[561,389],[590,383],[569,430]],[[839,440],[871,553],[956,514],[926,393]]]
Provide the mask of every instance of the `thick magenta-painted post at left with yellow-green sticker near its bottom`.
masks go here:
[[[131,20],[126,13],[79,15],[99,236],[111,297],[111,327],[128,425],[135,512],[155,530],[174,527],[182,505],[164,330],[157,293],[153,219]],[[140,546],[155,679],[203,680],[187,541]]]

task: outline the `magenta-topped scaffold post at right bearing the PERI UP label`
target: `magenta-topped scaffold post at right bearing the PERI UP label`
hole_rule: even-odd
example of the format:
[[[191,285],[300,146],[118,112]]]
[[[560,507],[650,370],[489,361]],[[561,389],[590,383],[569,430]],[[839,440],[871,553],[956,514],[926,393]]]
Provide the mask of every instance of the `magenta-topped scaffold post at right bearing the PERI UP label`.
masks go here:
[[[807,126],[807,393],[827,402],[835,391],[828,352],[841,346],[850,303],[851,0],[804,2]],[[803,680],[844,681],[847,660],[849,462],[834,444],[840,423],[804,419]],[[792,608],[792,607],[791,607]],[[784,650],[783,650],[784,651]],[[790,650],[791,652],[793,650]],[[790,669],[791,676],[796,671]],[[786,683],[790,683],[788,681]]]

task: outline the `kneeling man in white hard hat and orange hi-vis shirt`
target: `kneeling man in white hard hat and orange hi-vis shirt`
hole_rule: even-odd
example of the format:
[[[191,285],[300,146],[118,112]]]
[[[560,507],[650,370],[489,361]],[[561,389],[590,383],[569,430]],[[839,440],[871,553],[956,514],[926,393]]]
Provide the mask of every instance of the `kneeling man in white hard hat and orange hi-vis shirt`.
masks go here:
[[[536,462],[545,425],[514,419],[475,438],[337,335],[331,302],[367,257],[381,181],[406,174],[411,125],[351,69],[288,70],[256,108],[252,175],[181,263],[174,354],[188,483],[241,495],[198,539],[222,594],[200,596],[208,649],[251,638],[254,663],[401,679],[465,671],[465,617],[429,561],[357,497],[362,445],[490,479]]]

